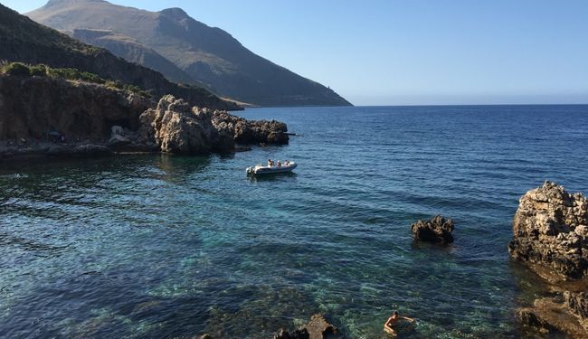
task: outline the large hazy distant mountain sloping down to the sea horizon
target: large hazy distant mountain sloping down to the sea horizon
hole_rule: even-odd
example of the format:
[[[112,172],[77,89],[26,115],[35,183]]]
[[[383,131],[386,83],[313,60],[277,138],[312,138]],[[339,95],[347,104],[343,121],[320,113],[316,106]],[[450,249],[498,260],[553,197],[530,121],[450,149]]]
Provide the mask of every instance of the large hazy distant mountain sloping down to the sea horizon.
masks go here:
[[[148,12],[102,0],[51,0],[27,15],[62,31],[100,29],[128,36],[232,99],[261,106],[350,105],[333,90],[261,58],[229,33],[179,8]]]

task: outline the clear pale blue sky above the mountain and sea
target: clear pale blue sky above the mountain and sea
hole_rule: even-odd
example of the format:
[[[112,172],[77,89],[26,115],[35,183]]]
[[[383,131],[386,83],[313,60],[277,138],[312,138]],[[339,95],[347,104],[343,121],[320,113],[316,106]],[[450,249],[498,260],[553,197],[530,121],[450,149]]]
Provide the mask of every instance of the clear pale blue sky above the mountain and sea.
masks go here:
[[[588,103],[587,0],[111,2],[181,7],[356,105]]]

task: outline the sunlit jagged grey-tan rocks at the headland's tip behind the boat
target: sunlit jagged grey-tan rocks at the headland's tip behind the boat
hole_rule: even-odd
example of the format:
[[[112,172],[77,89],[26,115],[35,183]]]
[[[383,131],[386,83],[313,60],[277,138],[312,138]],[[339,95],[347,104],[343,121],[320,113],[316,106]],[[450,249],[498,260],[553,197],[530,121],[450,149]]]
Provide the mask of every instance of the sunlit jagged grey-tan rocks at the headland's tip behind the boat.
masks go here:
[[[184,100],[166,96],[156,109],[140,117],[139,140],[162,152],[207,154],[229,152],[235,142],[288,143],[286,125],[277,121],[248,121],[226,111],[191,108]]]

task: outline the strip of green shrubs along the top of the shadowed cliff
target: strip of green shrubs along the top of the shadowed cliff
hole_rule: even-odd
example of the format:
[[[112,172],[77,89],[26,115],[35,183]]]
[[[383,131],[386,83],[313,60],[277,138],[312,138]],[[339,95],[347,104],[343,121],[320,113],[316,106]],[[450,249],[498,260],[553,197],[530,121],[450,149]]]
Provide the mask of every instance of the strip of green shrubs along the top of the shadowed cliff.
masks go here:
[[[73,68],[52,68],[43,63],[38,65],[27,65],[23,62],[0,62],[0,74],[8,74],[24,77],[51,77],[72,81],[83,81],[104,85],[109,89],[122,89],[129,92],[137,93],[143,97],[152,97],[149,91],[143,90],[138,86],[128,85],[119,80],[106,80],[99,75],[88,71],[80,71]]]

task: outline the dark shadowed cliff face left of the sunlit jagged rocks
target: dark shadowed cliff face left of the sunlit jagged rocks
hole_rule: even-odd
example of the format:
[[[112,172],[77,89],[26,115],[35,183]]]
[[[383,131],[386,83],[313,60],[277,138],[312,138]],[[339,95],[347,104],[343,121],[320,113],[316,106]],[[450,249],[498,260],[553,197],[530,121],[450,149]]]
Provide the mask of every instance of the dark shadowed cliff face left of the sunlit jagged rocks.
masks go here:
[[[138,128],[139,115],[153,102],[100,85],[48,77],[0,76],[0,139],[46,137],[101,140],[110,127]]]

